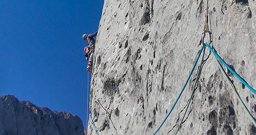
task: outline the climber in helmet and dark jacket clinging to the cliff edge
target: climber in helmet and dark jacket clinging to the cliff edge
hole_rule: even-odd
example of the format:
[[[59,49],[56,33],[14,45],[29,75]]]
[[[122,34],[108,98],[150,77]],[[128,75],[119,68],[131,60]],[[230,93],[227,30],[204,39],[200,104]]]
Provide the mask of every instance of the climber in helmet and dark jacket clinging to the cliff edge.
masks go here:
[[[83,40],[87,40],[88,46],[85,47],[85,58],[88,60],[88,65],[86,70],[92,73],[92,57],[93,57],[93,51],[94,51],[94,45],[95,45],[95,39],[94,37],[97,35],[98,32],[95,32],[93,34],[83,34],[82,38]]]

